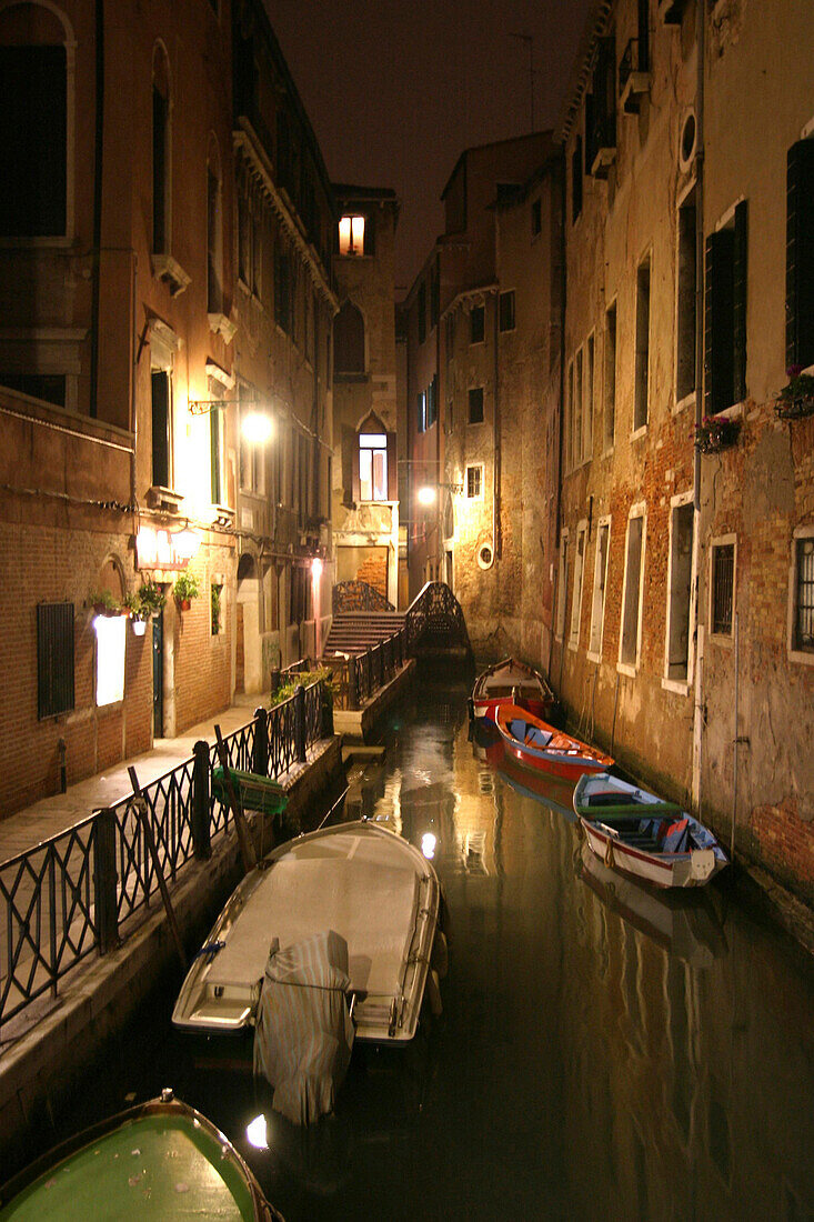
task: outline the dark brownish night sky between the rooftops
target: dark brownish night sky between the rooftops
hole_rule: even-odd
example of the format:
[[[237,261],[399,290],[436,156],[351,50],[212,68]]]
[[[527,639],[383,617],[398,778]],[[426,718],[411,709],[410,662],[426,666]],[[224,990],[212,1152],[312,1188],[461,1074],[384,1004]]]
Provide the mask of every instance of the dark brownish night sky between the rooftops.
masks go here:
[[[589,0],[265,0],[335,182],[401,200],[398,296],[464,148],[554,127]]]

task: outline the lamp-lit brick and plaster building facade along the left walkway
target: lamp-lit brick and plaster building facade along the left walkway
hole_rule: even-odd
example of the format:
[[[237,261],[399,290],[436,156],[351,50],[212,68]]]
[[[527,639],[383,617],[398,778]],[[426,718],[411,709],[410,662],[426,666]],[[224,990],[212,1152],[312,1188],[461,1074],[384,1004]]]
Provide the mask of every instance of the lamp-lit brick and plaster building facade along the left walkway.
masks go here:
[[[299,656],[336,301],[262,5],[4,0],[0,62],[1,816]],[[280,444],[249,448],[269,398]],[[144,584],[144,634],[97,612]]]

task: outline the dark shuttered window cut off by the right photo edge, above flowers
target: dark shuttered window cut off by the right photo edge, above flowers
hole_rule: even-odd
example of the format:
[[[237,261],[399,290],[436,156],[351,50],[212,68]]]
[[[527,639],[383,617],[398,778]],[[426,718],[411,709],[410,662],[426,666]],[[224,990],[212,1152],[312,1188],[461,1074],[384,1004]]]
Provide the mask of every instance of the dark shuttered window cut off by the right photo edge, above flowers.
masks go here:
[[[788,150],[786,365],[814,365],[814,138]]]

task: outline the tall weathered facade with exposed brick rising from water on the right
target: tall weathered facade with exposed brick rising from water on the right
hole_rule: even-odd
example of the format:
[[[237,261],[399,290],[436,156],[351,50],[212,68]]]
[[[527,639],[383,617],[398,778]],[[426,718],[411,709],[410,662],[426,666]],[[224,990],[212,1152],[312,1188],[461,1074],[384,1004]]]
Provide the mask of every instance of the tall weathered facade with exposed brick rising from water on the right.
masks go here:
[[[814,424],[775,404],[814,360],[812,50],[794,0],[592,13],[551,665],[625,766],[809,898]]]

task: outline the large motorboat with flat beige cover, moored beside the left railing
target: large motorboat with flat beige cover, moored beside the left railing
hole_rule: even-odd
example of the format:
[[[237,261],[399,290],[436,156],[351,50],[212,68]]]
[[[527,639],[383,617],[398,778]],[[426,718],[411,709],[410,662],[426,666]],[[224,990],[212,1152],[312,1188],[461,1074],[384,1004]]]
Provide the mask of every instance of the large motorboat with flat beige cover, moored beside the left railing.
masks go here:
[[[298,836],[247,874],[227,901],[187,974],[172,1022],[209,1034],[252,1029],[273,941],[286,949],[332,931],[347,942],[356,1039],[409,1040],[439,906],[431,864],[379,824]]]

